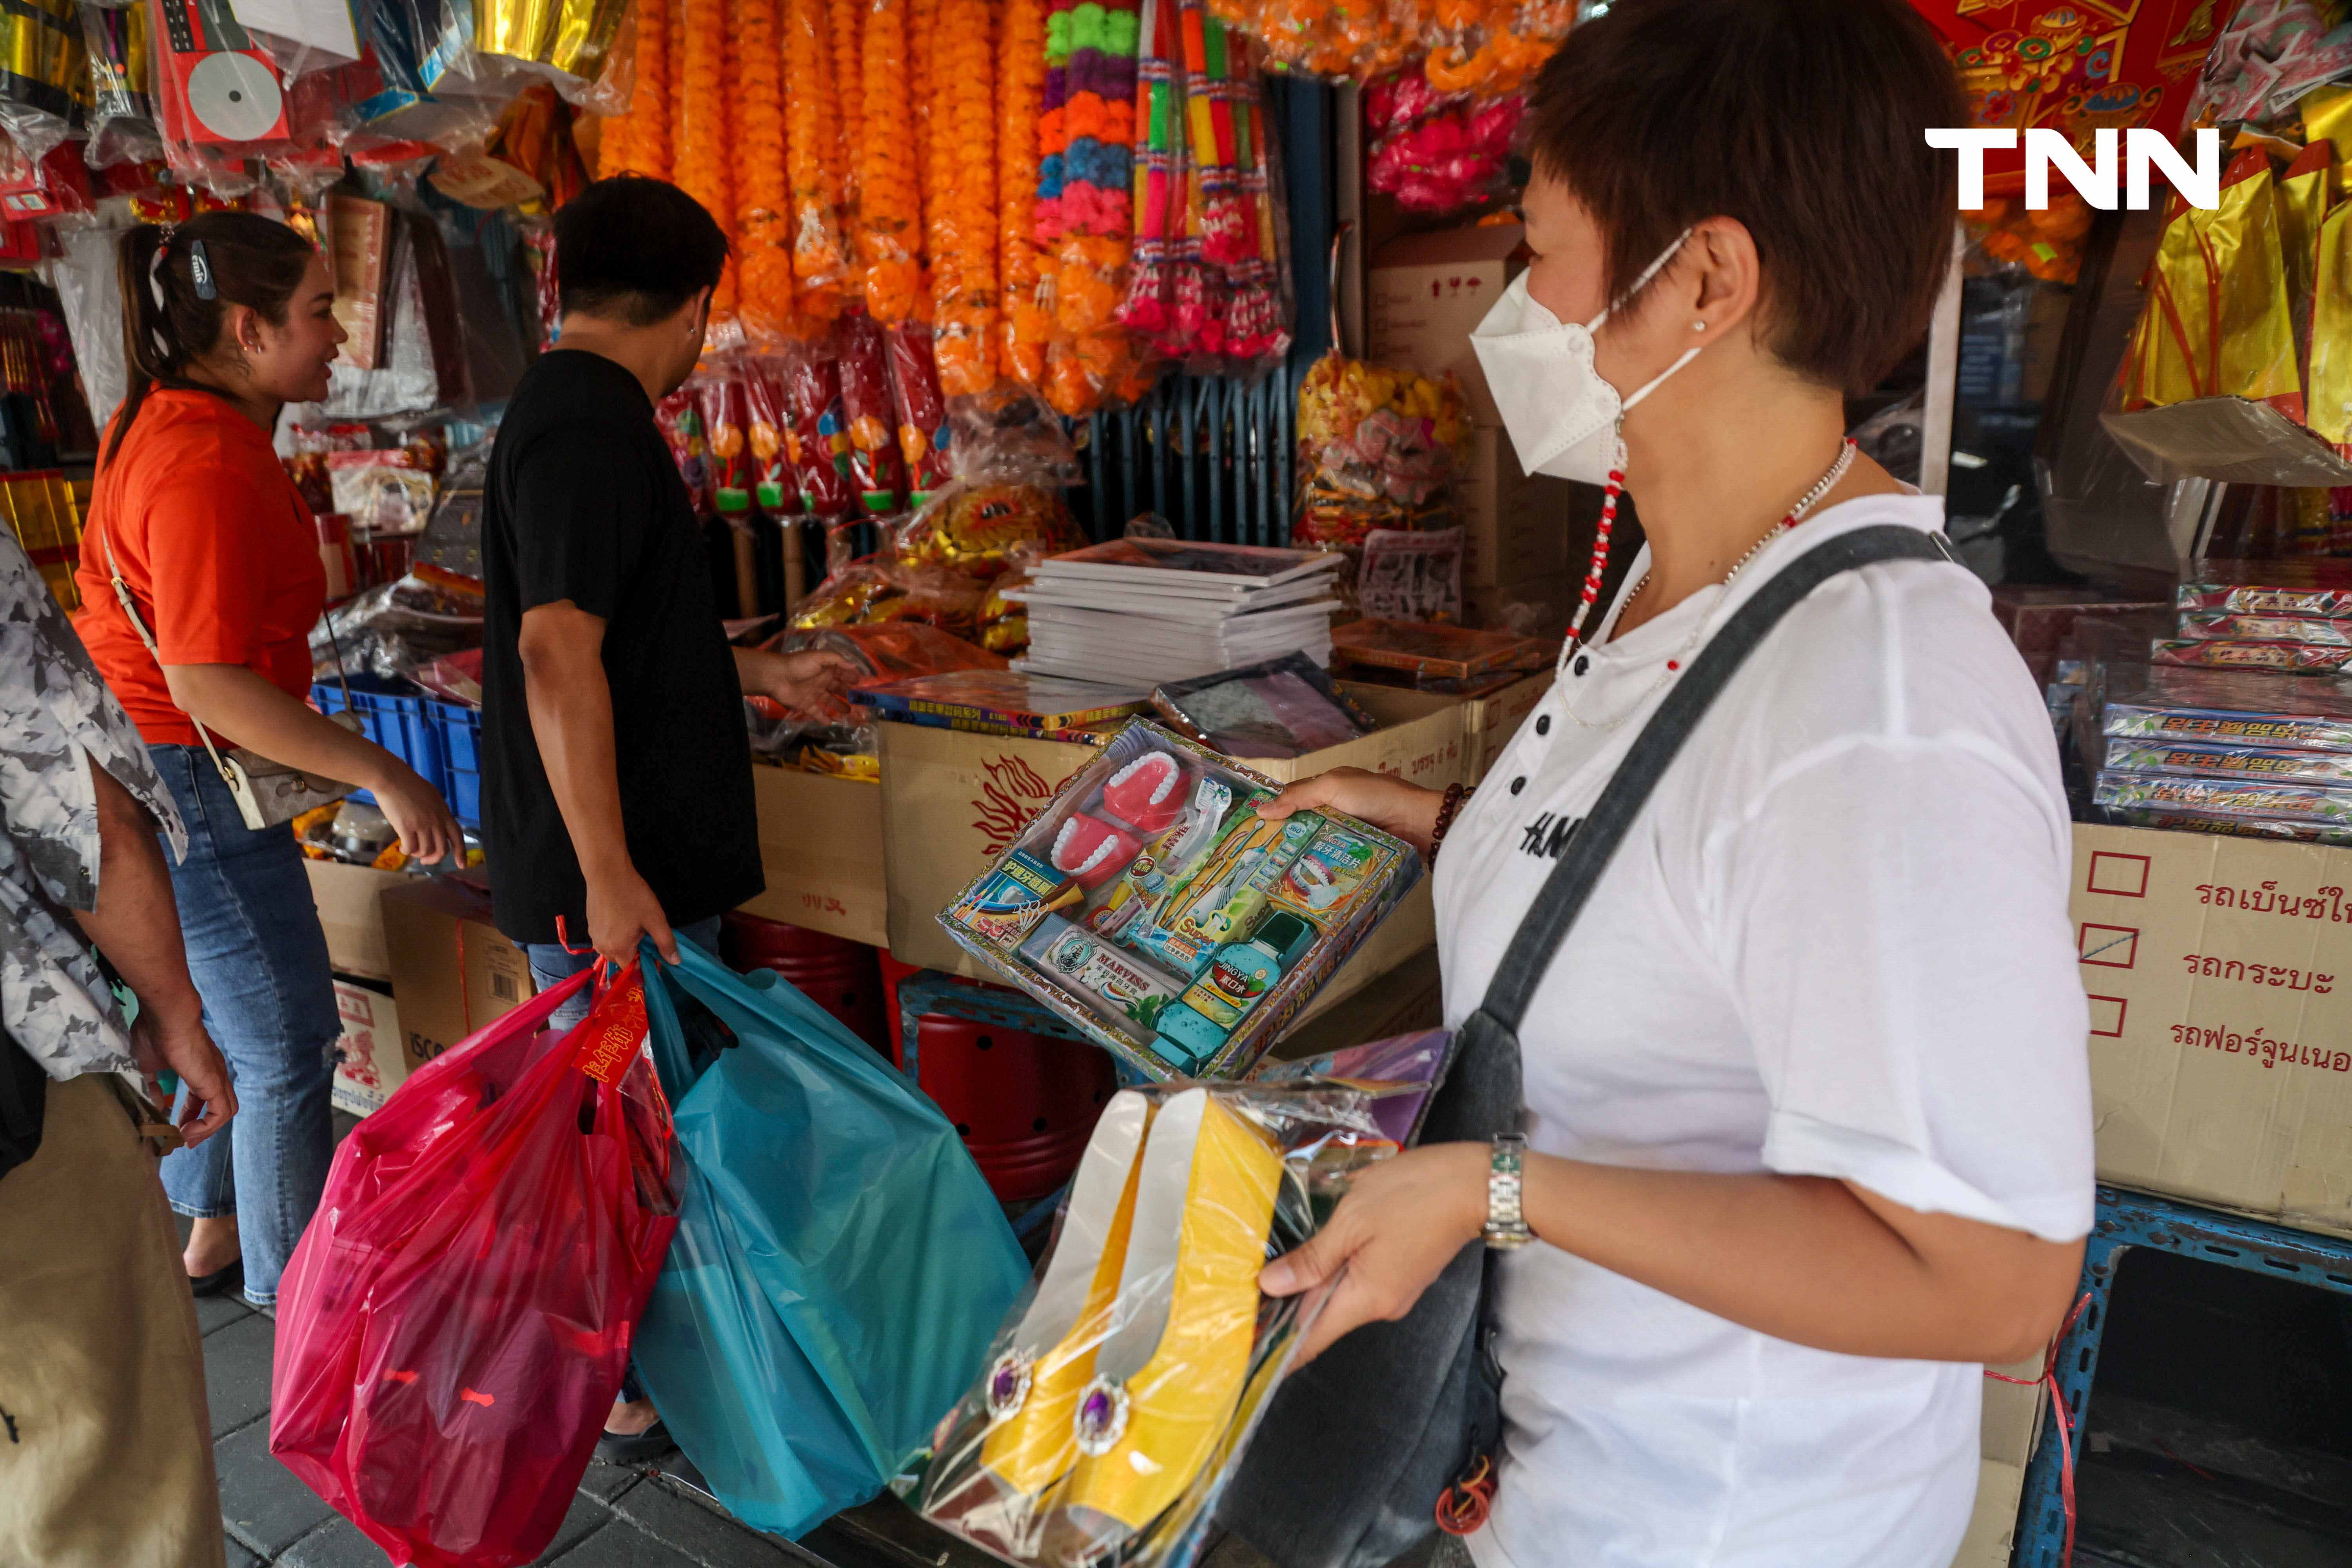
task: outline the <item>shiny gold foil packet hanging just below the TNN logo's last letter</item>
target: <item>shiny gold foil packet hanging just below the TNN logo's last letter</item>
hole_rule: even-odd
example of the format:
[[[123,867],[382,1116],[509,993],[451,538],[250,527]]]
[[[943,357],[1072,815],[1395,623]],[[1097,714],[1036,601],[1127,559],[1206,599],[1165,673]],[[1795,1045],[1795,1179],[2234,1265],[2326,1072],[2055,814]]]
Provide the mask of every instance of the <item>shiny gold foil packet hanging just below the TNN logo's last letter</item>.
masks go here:
[[[2260,148],[2230,165],[2220,207],[2180,207],[2166,226],[2126,367],[2126,409],[2251,397],[2303,418],[2279,209]]]

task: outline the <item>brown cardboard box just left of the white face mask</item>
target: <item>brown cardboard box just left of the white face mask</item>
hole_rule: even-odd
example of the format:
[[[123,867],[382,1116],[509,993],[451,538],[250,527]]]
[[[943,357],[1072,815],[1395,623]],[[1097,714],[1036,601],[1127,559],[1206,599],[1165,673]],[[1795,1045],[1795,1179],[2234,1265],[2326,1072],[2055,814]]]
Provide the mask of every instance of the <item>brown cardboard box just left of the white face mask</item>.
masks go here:
[[[1371,259],[1364,303],[1371,360],[1423,376],[1456,376],[1470,400],[1470,418],[1501,425],[1503,414],[1486,390],[1470,329],[1526,268],[1524,237],[1517,223],[1489,223],[1383,244]]]

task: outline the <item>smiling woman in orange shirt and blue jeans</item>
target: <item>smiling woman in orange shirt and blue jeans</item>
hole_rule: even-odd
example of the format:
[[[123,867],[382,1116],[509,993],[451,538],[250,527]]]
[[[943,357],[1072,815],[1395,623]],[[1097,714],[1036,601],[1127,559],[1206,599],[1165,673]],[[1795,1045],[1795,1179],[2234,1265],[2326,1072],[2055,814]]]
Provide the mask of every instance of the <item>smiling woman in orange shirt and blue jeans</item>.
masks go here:
[[[285,223],[212,212],[129,230],[120,282],[129,397],[99,447],[75,625],[188,825],[172,893],[247,1112],[162,1164],[172,1208],[195,1218],[183,1262],[198,1293],[242,1272],[245,1300],[266,1307],[327,1182],[341,1023],[294,832],[245,825],[195,726],[374,790],[419,860],[452,853],[459,827],[405,762],[306,703],[327,574],[270,433],[285,404],[327,395],[346,336],[325,259]]]

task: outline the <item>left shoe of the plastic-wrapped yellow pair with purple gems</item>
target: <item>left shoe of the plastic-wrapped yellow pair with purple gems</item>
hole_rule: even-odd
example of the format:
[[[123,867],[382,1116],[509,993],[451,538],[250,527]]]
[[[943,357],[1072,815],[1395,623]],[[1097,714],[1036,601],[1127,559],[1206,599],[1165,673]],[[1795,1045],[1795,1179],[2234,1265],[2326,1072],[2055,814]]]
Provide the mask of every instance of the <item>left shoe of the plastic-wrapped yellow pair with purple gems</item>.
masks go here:
[[[981,1467],[924,1497],[927,1516],[997,1552],[1035,1549],[1040,1495],[1077,1462],[1073,1413],[1110,1331],[1150,1119],[1152,1103],[1134,1091],[1103,1107],[1037,1293],[981,1385]]]

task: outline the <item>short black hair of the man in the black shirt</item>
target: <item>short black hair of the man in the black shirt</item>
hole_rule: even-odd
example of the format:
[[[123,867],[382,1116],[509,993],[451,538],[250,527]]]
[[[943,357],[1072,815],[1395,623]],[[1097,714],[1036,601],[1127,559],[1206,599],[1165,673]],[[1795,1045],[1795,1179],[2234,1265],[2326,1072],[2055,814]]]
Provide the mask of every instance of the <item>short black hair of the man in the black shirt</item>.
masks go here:
[[[727,230],[666,179],[614,174],[555,212],[555,308],[652,327],[727,270]]]

